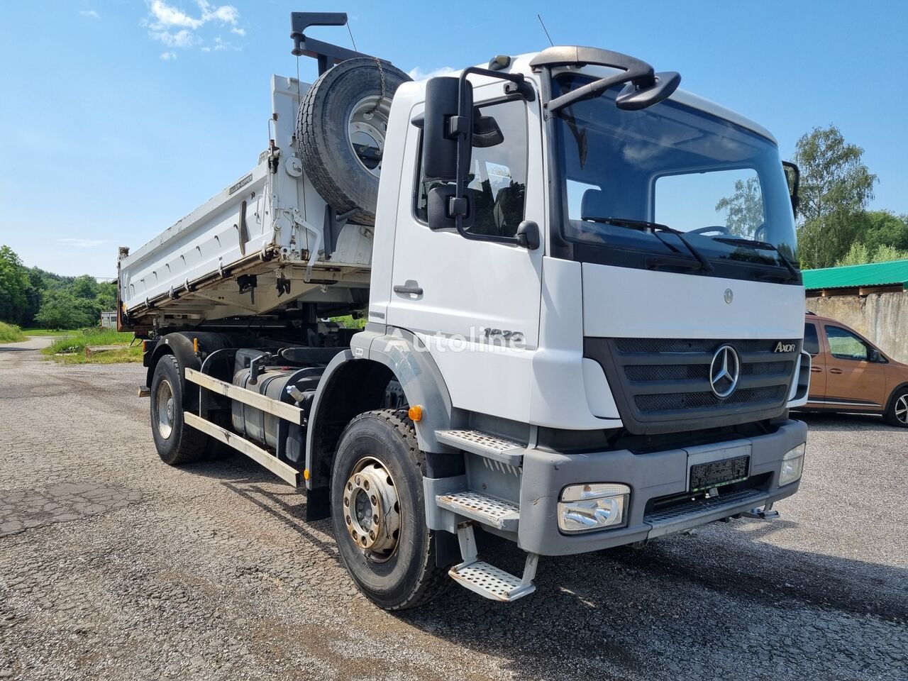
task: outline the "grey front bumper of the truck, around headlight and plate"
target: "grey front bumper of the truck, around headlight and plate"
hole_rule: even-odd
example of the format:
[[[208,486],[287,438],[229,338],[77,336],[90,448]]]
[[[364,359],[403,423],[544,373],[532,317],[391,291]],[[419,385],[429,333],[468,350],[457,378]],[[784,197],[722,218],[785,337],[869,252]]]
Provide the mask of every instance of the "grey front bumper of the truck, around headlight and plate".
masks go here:
[[[716,445],[716,449],[750,446],[750,478],[764,476],[753,489],[720,493],[714,498],[686,501],[668,508],[646,511],[654,498],[681,494],[687,489],[688,457],[702,454],[688,449],[634,454],[627,449],[592,454],[558,454],[529,450],[523,457],[520,489],[520,548],[544,556],[596,551],[661,537],[729,518],[745,510],[789,497],[800,480],[778,487],[779,468],[785,452],[804,442],[807,427],[786,421],[775,433]],[[630,487],[627,527],[588,534],[566,535],[558,530],[558,497],[568,485],[616,482]]]

